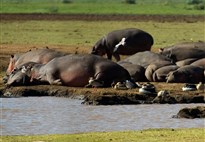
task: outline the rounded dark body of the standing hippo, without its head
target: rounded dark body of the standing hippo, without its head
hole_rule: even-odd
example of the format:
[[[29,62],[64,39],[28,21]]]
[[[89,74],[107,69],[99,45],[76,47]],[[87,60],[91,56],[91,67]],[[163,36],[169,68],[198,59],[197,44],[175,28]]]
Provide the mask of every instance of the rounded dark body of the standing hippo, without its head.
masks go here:
[[[150,50],[154,43],[153,37],[149,33],[136,28],[128,28],[108,33],[106,36],[107,47],[113,51],[115,45],[122,38],[126,38],[126,47],[131,48],[119,48],[118,53],[121,55],[132,55],[136,52]]]

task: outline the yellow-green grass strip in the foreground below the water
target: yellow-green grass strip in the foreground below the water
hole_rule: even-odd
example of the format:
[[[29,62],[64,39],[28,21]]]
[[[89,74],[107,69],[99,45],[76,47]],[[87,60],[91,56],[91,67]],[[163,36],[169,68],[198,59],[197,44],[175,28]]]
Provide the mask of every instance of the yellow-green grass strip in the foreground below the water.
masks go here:
[[[150,129],[67,135],[2,136],[2,142],[204,142],[205,129]]]

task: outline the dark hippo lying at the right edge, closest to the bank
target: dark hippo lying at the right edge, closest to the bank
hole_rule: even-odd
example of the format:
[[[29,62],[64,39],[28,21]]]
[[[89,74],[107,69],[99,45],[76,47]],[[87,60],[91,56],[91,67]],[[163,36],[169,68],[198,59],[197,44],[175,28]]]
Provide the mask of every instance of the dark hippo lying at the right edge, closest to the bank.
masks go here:
[[[167,75],[167,83],[199,83],[204,82],[204,69],[186,65],[171,71]]]

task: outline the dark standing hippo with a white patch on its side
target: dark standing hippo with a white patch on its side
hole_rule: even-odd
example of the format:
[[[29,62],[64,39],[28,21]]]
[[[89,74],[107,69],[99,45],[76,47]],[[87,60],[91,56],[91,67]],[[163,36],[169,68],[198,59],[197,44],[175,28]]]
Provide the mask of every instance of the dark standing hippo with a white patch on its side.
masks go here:
[[[108,59],[111,60],[114,56],[116,61],[119,61],[119,55],[133,55],[150,50],[153,43],[153,37],[143,30],[136,28],[115,30],[97,41],[91,54],[100,56],[107,54]]]

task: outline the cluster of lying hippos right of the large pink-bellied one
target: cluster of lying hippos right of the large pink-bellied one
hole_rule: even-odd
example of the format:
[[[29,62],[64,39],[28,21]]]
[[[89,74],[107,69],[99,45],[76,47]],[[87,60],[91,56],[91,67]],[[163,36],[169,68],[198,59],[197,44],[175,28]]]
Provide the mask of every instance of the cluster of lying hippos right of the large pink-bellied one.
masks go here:
[[[204,82],[205,42],[176,44],[160,49],[159,53],[139,52],[118,63],[126,67],[135,81],[142,81],[144,76],[144,81],[150,82]],[[136,65],[138,70],[133,72]]]

